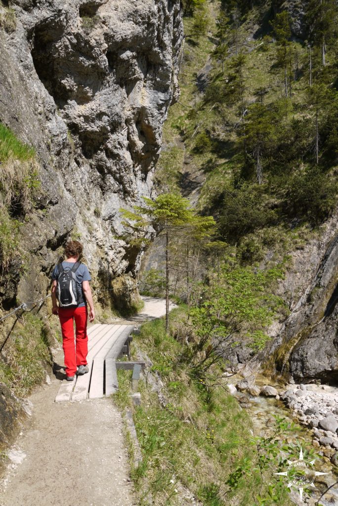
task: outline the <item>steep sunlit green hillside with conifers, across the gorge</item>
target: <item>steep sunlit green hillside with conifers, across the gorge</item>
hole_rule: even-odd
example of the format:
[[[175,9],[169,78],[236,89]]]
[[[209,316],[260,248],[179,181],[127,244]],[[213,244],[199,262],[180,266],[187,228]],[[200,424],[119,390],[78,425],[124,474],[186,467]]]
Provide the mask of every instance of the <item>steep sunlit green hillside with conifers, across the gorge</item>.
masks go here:
[[[285,328],[291,327],[285,336],[289,344],[269,367],[277,362],[279,370],[291,367],[302,377],[301,368],[313,357],[302,352],[300,358],[297,347],[324,316],[336,282],[330,241],[337,203],[337,7],[330,0],[187,2],[185,11],[181,98],[164,125],[166,144],[156,177],[165,191],[181,191],[200,214],[213,215],[218,230],[202,247],[202,263],[192,242],[189,261],[182,252],[173,253],[173,292],[187,297],[187,283],[180,291],[178,279],[189,262],[201,264],[198,275],[191,268],[191,284],[194,277],[210,283],[213,266],[220,269],[229,256],[241,272],[277,269],[276,277],[284,279],[270,288],[283,303],[275,308],[274,323],[256,322],[251,336],[259,332],[258,348],[264,347],[260,332],[278,336],[269,353],[284,343]],[[330,266],[325,282],[317,273],[323,261]],[[158,265],[153,255],[150,263]],[[154,271],[147,276],[146,289],[163,284]],[[284,325],[299,307],[298,325],[289,326],[288,320]],[[334,305],[330,308],[333,320],[326,324],[332,329]],[[323,353],[332,358],[323,356],[321,366],[310,366],[305,376],[334,376],[329,372],[336,369],[334,332],[327,328]],[[298,358],[292,365],[293,348]],[[252,350],[228,355],[242,362]],[[259,356],[264,360],[265,354]]]

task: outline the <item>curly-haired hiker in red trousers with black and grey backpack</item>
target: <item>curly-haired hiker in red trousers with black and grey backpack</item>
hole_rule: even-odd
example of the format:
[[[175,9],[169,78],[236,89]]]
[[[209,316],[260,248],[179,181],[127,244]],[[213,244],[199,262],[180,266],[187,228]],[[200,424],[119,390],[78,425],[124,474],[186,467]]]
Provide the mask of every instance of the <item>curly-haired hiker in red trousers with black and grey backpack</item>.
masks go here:
[[[65,246],[66,260],[56,265],[52,272],[52,313],[59,315],[61,323],[67,381],[73,381],[76,368],[78,375],[89,371],[87,303],[90,307],[89,321],[95,318],[92,290],[89,286],[92,278],[87,266],[78,262],[81,255],[82,244],[78,241],[69,241]]]

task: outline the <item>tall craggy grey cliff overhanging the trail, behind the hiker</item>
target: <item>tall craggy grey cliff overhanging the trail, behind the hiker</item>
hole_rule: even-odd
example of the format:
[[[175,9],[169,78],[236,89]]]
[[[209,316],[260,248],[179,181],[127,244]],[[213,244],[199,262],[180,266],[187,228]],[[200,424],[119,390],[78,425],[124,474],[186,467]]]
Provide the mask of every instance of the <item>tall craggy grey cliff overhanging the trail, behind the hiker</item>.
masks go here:
[[[118,209],[152,195],[162,124],[179,93],[180,1],[3,5],[16,28],[0,32],[0,121],[35,147],[41,181],[21,231],[27,275],[19,281],[12,266],[3,305],[16,292],[21,301],[46,293],[71,234],[85,244],[96,286],[112,286],[117,306],[131,303],[141,253],[117,238]]]

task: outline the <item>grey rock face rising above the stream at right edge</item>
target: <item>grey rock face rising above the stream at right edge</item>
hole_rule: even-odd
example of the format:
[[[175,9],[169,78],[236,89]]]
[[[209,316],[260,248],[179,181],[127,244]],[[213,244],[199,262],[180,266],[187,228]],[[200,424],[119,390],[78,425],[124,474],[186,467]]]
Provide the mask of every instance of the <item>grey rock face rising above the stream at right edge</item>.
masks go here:
[[[291,374],[296,381],[319,378],[338,383],[336,220],[335,215],[326,224],[321,239],[309,243],[303,255],[294,255],[295,269],[281,287],[284,294],[286,287],[294,290],[295,302],[289,317],[276,329],[268,352],[269,364],[279,373]],[[297,300],[298,290],[301,296]]]

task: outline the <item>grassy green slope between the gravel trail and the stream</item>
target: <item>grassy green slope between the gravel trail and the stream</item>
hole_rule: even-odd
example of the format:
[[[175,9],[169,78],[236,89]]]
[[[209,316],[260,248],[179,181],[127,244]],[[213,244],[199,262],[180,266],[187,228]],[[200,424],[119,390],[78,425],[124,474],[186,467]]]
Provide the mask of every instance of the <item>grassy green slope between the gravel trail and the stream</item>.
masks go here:
[[[168,335],[164,321],[156,319],[134,338],[134,350],[136,345],[152,363],[139,382],[141,406],[133,406],[129,397],[131,371],[118,371],[114,401],[133,410],[142,453],[137,467],[131,455],[139,504],[179,506],[187,493],[205,506],[263,504],[259,496],[272,505],[276,494],[278,504],[289,504],[285,486],[272,478],[275,469],[261,474],[249,413],[228,394],[226,382],[206,387],[191,379],[189,364],[180,360],[182,344],[173,335],[185,316],[184,307],[171,312]]]

